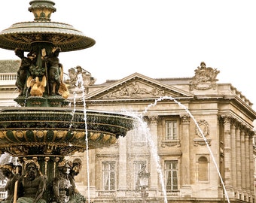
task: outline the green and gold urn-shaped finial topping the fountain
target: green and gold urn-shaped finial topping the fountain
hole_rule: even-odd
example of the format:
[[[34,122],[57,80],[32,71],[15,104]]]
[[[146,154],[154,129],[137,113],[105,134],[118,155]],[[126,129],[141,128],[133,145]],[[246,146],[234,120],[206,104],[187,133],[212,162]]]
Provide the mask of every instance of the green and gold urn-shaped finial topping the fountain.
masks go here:
[[[35,21],[50,21],[50,15],[56,11],[54,2],[50,0],[33,0],[29,2],[29,11],[34,14]]]

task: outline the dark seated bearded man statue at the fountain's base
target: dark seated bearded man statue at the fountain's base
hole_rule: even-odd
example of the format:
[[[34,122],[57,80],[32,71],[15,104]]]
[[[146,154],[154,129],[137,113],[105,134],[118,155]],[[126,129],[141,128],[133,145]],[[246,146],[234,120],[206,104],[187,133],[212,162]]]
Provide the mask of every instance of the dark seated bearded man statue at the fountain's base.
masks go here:
[[[34,160],[25,162],[26,174],[20,177],[18,183],[17,203],[46,203],[42,196],[47,178],[41,174],[39,168],[38,162]]]

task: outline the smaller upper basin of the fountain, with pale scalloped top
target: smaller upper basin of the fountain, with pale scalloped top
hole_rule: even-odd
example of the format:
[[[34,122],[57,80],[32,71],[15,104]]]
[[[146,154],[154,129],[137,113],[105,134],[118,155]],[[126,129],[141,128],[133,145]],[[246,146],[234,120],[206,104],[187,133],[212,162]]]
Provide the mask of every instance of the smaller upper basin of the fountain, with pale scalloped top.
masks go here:
[[[24,38],[18,38],[17,35],[27,36]],[[30,38],[30,35],[59,35],[61,38],[69,38],[68,41],[48,41],[56,47],[60,47],[62,52],[83,50],[89,47],[93,47],[96,41],[93,38],[87,37],[83,32],[75,29],[68,23],[59,22],[44,22],[44,21],[25,21],[20,23],[14,23],[8,29],[4,29],[0,32],[0,48],[6,50],[15,50],[20,48],[24,51],[31,51],[32,43],[40,42],[44,40],[35,40]]]

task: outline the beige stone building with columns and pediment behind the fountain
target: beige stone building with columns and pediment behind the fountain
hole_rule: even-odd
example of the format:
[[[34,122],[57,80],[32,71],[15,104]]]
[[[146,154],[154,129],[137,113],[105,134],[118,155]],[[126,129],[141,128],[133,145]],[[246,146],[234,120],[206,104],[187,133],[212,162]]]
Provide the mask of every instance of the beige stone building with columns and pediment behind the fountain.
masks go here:
[[[81,70],[66,78],[69,108],[142,118],[111,147],[69,157],[83,165],[76,177],[82,194],[94,202],[141,202],[137,180],[146,165],[147,202],[256,202],[256,112],[236,87],[218,83],[217,69],[202,62],[191,77],[134,73],[99,85]],[[0,79],[2,107],[16,105],[14,83]]]

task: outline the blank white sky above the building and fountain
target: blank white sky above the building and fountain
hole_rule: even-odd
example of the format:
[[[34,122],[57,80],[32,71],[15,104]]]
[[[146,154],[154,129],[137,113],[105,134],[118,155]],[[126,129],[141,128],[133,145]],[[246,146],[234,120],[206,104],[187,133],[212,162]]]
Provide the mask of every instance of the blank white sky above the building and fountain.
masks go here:
[[[32,21],[30,0],[2,2],[0,31]],[[193,77],[200,62],[218,68],[256,109],[255,0],[53,0],[54,22],[96,40],[86,50],[60,53],[66,70],[81,65],[96,83],[138,72],[152,78]],[[0,59],[18,59],[0,49]]]

